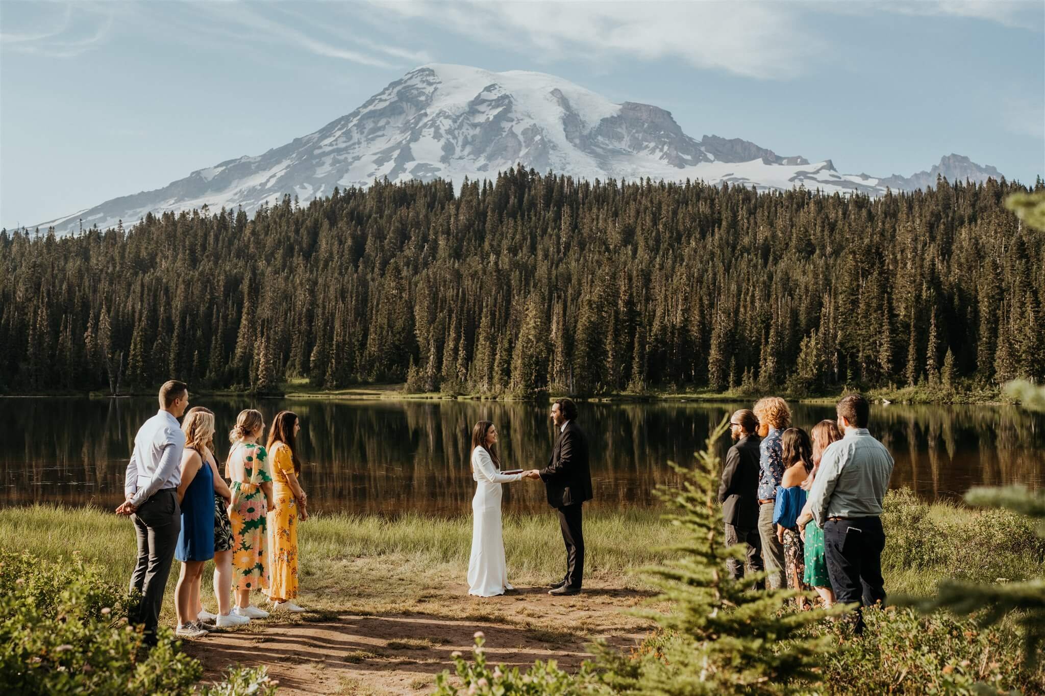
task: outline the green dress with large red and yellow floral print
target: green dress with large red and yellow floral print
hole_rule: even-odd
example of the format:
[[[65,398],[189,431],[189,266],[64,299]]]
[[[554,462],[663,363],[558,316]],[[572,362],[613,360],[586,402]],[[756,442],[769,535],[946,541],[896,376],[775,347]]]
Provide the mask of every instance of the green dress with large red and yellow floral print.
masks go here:
[[[229,453],[233,481],[229,521],[232,523],[232,571],[235,590],[269,586],[266,505],[261,484],[272,481],[264,448],[239,442]]]

